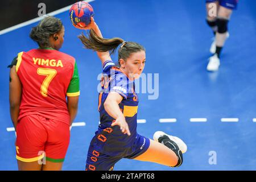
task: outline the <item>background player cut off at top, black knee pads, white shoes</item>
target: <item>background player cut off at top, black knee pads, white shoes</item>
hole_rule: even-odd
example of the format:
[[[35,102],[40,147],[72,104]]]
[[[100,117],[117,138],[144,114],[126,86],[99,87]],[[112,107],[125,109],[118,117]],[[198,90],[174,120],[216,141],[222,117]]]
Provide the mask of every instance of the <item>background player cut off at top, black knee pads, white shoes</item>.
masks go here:
[[[208,71],[218,71],[220,67],[221,50],[229,37],[228,23],[234,9],[237,9],[238,0],[207,0],[207,24],[212,28],[215,36],[210,52]]]

